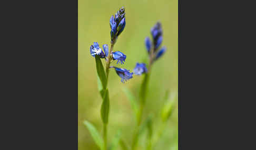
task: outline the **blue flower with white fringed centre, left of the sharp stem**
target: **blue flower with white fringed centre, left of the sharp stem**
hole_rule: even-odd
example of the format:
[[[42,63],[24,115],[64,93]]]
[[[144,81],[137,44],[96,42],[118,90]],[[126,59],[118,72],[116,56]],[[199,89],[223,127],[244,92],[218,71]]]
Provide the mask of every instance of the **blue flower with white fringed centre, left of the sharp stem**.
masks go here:
[[[93,57],[95,57],[95,55],[99,55],[101,58],[105,58],[109,54],[109,47],[106,44],[104,44],[103,50],[106,55],[100,48],[98,42],[93,42],[93,45],[91,45],[91,47],[90,47],[90,52]]]

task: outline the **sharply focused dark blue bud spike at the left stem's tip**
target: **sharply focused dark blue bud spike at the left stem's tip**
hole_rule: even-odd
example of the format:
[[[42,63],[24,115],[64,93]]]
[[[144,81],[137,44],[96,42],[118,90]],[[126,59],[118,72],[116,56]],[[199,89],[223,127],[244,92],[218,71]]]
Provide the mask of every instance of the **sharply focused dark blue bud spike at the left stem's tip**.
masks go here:
[[[110,17],[110,36],[111,36],[111,42],[114,43],[117,37],[122,33],[125,27],[125,13],[124,13],[124,7],[119,9],[115,13],[115,17],[112,15]]]

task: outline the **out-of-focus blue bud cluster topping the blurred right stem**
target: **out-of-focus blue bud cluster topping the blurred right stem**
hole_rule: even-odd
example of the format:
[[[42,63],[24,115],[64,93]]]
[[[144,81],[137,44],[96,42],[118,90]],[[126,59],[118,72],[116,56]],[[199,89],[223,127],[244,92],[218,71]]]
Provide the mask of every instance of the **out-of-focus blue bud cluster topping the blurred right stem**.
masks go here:
[[[153,38],[153,44],[149,37],[145,38],[145,46],[149,55],[151,55],[151,50],[153,50],[153,60],[157,60],[160,58],[164,52],[166,51],[166,47],[162,47],[159,49],[162,41],[163,41],[163,30],[161,27],[161,23],[156,23],[155,26],[151,29],[151,35]],[[153,46],[152,46],[153,45]]]

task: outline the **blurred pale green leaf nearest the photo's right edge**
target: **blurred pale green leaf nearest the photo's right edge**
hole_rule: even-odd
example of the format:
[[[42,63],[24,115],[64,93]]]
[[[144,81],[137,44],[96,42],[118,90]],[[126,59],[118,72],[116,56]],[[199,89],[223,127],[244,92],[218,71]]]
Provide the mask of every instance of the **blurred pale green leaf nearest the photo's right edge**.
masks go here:
[[[176,93],[172,93],[170,101],[167,101],[162,109],[162,121],[165,122],[169,119],[173,112],[173,106],[175,104]],[[169,97],[168,97],[169,98]]]

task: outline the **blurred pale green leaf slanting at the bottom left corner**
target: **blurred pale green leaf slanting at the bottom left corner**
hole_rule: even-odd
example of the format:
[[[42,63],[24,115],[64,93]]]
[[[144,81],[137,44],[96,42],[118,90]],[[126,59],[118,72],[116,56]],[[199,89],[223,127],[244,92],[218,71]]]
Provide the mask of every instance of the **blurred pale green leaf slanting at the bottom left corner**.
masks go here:
[[[90,122],[84,121],[84,124],[87,126],[88,131],[92,135],[93,140],[96,143],[96,145],[99,146],[101,150],[103,150],[103,147],[104,147],[103,139],[100,136],[99,132],[96,130],[96,128]]]

